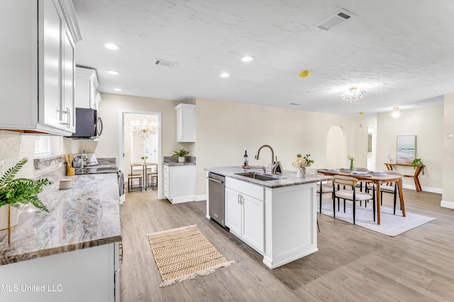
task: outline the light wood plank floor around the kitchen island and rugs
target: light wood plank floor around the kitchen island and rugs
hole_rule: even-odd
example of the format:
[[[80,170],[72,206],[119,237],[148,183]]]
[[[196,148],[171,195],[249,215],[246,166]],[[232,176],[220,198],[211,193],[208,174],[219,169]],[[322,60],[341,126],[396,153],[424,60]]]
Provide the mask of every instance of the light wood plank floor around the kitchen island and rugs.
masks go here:
[[[205,218],[205,202],[126,193],[121,301],[454,301],[454,210],[440,207],[440,194],[404,190],[404,196],[406,211],[436,220],[392,238],[318,214],[319,252],[271,270]],[[385,194],[385,207],[392,207],[390,198]],[[190,224],[236,264],[159,288],[145,234]]]

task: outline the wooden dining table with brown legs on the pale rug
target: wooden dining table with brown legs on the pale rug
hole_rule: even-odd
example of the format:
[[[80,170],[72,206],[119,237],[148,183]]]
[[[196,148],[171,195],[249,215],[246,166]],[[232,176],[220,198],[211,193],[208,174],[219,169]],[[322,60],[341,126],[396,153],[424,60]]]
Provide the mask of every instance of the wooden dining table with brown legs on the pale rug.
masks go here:
[[[377,224],[380,224],[380,204],[381,202],[381,194],[380,194],[380,185],[382,183],[387,183],[387,182],[397,182],[397,190],[399,190],[399,199],[400,199],[400,206],[402,209],[402,216],[405,217],[405,204],[404,204],[404,194],[402,193],[402,176],[400,175],[390,175],[386,173],[350,173],[347,171],[342,171],[342,170],[334,170],[334,169],[319,169],[317,172],[322,173],[323,175],[345,175],[345,176],[350,176],[352,178],[356,178],[360,182],[371,182],[372,184],[375,184],[377,187],[377,198],[375,199],[377,201]]]

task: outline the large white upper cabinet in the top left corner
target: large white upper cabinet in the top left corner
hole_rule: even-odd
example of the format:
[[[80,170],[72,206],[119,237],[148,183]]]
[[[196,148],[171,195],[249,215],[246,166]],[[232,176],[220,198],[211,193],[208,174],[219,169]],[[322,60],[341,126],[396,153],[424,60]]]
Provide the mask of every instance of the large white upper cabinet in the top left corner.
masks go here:
[[[1,1],[0,129],[70,136],[75,131],[75,42],[69,0]],[[6,30],[8,29],[8,30]]]

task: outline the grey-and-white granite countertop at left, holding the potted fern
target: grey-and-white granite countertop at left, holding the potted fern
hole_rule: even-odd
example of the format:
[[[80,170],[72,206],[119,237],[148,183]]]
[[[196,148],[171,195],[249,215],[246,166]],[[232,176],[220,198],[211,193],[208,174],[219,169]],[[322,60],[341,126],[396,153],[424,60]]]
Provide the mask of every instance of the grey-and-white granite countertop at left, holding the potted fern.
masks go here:
[[[19,209],[18,226],[0,231],[0,265],[70,252],[121,240],[116,173],[64,177],[72,189],[59,190],[59,181],[38,196],[49,213],[31,204]]]

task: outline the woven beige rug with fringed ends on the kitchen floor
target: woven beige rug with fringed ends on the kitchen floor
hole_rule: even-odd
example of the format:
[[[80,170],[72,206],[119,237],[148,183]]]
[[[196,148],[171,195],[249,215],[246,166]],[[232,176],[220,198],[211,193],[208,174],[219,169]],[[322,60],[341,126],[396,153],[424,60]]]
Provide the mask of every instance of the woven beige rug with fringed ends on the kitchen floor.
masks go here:
[[[159,287],[205,276],[235,263],[227,261],[196,226],[152,233],[148,240],[162,277]]]

